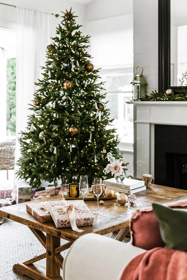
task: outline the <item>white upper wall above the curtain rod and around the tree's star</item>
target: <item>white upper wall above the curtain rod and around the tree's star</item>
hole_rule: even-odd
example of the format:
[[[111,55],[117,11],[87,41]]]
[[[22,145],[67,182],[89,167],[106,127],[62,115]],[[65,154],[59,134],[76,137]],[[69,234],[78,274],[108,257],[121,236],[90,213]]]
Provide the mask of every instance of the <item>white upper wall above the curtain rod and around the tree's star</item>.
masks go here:
[[[69,10],[72,7],[72,11],[75,11],[77,24],[84,25],[85,21],[85,5],[76,3],[69,0],[3,0],[3,3],[14,5],[18,7],[24,7],[27,9],[33,9],[37,11],[42,11],[45,13],[58,13],[62,15],[61,11]],[[0,23],[15,23],[15,8],[0,4]],[[62,21],[62,18],[53,17],[53,36],[55,35],[55,30],[58,24]]]

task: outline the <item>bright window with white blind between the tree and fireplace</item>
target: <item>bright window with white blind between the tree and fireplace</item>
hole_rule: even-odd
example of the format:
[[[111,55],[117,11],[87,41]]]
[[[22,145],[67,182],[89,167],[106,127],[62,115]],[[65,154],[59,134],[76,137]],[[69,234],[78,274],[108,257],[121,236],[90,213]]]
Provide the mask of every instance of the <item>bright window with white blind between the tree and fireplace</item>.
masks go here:
[[[105,82],[106,108],[110,109],[112,125],[117,129],[121,145],[133,143],[133,15],[126,14],[88,22],[86,33],[91,35],[90,53],[93,64]]]

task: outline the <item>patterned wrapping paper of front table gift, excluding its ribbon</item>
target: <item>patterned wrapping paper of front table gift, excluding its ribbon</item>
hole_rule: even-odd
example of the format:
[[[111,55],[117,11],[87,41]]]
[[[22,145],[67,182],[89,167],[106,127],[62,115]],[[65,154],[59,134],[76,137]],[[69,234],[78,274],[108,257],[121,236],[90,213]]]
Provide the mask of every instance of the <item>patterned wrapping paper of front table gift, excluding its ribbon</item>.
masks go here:
[[[93,225],[94,217],[90,212],[89,208],[86,206],[83,200],[68,200],[68,204],[82,202],[83,208],[82,210],[78,210],[75,207],[75,217],[76,217],[76,225],[77,227],[85,227],[89,225]],[[62,209],[53,210],[54,206],[64,206],[61,201],[49,201],[49,212],[53,218],[53,221],[57,228],[60,227],[71,227],[70,219],[68,212],[64,213]]]

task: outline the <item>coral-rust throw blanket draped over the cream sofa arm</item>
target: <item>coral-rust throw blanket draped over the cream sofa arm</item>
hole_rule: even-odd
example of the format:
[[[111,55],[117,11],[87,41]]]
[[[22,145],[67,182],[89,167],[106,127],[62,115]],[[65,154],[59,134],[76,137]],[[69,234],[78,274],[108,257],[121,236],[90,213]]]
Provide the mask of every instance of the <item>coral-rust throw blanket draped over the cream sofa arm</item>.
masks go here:
[[[161,247],[133,258],[120,280],[187,280],[187,253]]]

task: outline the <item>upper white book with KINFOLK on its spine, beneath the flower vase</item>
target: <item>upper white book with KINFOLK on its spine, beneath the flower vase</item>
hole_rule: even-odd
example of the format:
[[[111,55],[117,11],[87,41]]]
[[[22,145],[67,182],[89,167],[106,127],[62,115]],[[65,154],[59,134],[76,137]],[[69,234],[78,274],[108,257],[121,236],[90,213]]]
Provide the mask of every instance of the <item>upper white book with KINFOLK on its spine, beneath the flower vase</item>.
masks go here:
[[[133,190],[145,186],[145,181],[125,178],[122,182],[117,182],[115,178],[103,180],[103,184],[110,187]]]

